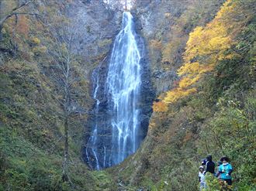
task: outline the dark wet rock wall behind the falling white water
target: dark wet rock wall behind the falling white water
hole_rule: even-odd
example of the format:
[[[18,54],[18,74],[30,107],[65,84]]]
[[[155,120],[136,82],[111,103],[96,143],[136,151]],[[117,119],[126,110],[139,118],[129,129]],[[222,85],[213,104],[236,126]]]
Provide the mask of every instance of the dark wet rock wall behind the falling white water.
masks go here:
[[[154,99],[154,90],[152,89],[151,82],[150,82],[150,68],[149,68],[149,62],[147,58],[148,55],[144,46],[144,39],[137,34],[137,31],[138,31],[137,20],[133,19],[132,15],[130,15],[130,17],[132,19],[130,19],[130,24],[127,25],[126,27],[127,29],[130,29],[129,31],[130,35],[128,35],[128,37],[126,36],[126,34],[129,34],[129,32],[127,32],[126,31],[127,29],[124,29],[124,26],[123,26],[123,32],[120,31],[119,35],[116,37],[119,39],[116,39],[116,42],[113,45],[113,48],[111,50],[113,52],[111,53],[111,51],[109,51],[109,53],[104,58],[104,60],[102,60],[102,63],[100,63],[99,66],[92,73],[92,87],[93,87],[92,97],[94,97],[95,99],[95,106],[94,106],[95,116],[92,116],[92,118],[90,118],[90,120],[88,121],[87,126],[90,129],[90,131],[85,138],[86,145],[83,151],[84,151],[85,161],[93,169],[106,168],[111,165],[116,165],[117,163],[123,161],[123,156],[122,156],[121,161],[119,160],[116,162],[117,159],[115,159],[116,158],[115,156],[117,155],[116,152],[118,152],[117,150],[119,150],[119,148],[117,147],[117,144],[116,144],[117,140],[115,141],[115,139],[118,138],[119,134],[123,136],[124,131],[122,130],[122,132],[119,132],[119,134],[117,135],[114,134],[115,133],[115,130],[113,127],[114,124],[124,125],[125,128],[127,128],[125,131],[132,131],[130,130],[131,128],[130,126],[136,125],[137,135],[134,135],[134,136],[137,137],[137,142],[141,142],[144,139],[144,137],[147,135],[149,118],[152,112],[151,105]],[[123,22],[125,21],[126,19],[123,19]],[[130,42],[134,42],[134,45],[125,44]],[[136,48],[134,48],[133,46]],[[125,51],[126,47],[128,47],[127,51]],[[140,52],[140,56],[139,56],[140,58],[137,60],[137,62],[139,63],[136,63],[135,61],[133,61],[134,60],[133,53],[132,53],[132,56],[126,55],[131,53],[130,51],[133,51],[134,49],[137,49],[137,51]],[[116,55],[118,55],[118,59],[116,58]],[[115,58],[114,63],[112,61],[114,59],[113,57]],[[136,73],[137,67],[135,67],[134,70],[129,70],[129,71],[123,71],[122,69],[123,67],[126,68],[124,70],[130,69],[129,64],[133,62],[135,62],[140,66],[140,74],[137,74],[140,76],[139,77],[140,79],[138,78],[138,80],[134,81],[132,84],[130,84],[130,86],[133,87],[135,84],[139,84],[140,90],[138,92],[132,91],[131,94],[127,97],[128,102],[132,101],[131,103],[129,102],[130,104],[128,103],[128,105],[123,105],[123,107],[120,107],[120,108],[119,108],[119,104],[123,104],[123,102],[121,101],[122,103],[117,104],[116,106],[118,107],[117,111],[120,112],[120,114],[117,114],[118,116],[122,115],[122,111],[124,111],[124,113],[126,112],[127,113],[125,114],[125,116],[120,117],[119,119],[116,119],[114,116],[116,116],[115,112],[117,111],[115,111],[115,108],[113,107],[113,103],[112,103],[115,101],[112,101],[113,95],[111,92],[108,91],[108,89],[112,88],[111,90],[116,92],[115,96],[116,94],[121,95],[123,94],[123,92],[130,90],[129,88],[128,88],[129,90],[125,90],[125,89],[119,90],[118,88],[119,86],[125,87],[127,84],[127,81],[133,79],[132,75]],[[123,66],[123,64],[125,64],[125,66]],[[114,69],[115,71],[112,71],[112,69]],[[126,72],[130,72],[130,76],[129,76],[130,79],[127,79],[127,80],[123,79],[122,78],[123,74],[120,74],[118,76],[119,73],[126,73]],[[116,76],[118,76],[120,79],[117,78],[116,80],[110,80],[112,81],[112,84],[109,84],[108,83],[109,79],[112,79]],[[119,85],[117,85],[116,87],[116,84],[119,84]],[[136,101],[134,101],[135,97],[133,97],[133,94],[137,94]],[[121,96],[119,97],[119,99],[122,100],[123,97]],[[130,107],[134,107],[134,108],[129,110]],[[136,114],[137,118],[134,118],[135,116],[133,112],[137,113]],[[130,117],[126,118],[126,116],[130,116]],[[134,122],[136,122],[136,124],[133,124]],[[115,143],[112,143],[112,142],[115,142]],[[125,142],[126,140],[124,141],[124,144]],[[123,153],[123,154],[119,153],[119,155],[126,156],[127,153],[128,155],[130,155],[132,152],[134,152],[134,150],[137,150],[138,145],[140,145],[139,143],[130,141],[130,137],[128,138],[127,142],[129,142],[129,144],[126,146],[123,146],[125,151],[120,151],[120,152],[126,152],[126,153]],[[136,145],[134,146],[133,151],[130,149],[130,145]]]

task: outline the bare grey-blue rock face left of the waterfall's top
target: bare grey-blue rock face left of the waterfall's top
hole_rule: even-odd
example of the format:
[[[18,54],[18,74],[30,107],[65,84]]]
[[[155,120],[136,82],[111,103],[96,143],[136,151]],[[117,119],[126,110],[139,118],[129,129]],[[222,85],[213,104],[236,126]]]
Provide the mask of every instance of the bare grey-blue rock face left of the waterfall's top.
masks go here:
[[[75,32],[77,53],[85,60],[88,79],[95,67],[105,67],[106,56],[119,32],[122,12],[107,9],[102,1],[77,1],[67,9]],[[105,60],[104,60],[105,59]]]

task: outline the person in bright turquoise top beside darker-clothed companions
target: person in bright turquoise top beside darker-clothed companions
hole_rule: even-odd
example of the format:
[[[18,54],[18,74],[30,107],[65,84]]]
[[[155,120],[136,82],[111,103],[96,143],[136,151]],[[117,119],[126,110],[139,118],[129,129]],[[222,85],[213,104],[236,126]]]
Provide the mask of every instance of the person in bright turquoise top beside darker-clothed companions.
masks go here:
[[[230,159],[227,156],[223,156],[220,161],[222,165],[220,165],[220,169],[218,172],[218,176],[220,175],[220,179],[224,182],[227,182],[228,185],[232,185],[231,173],[233,172],[232,165],[230,165]]]

